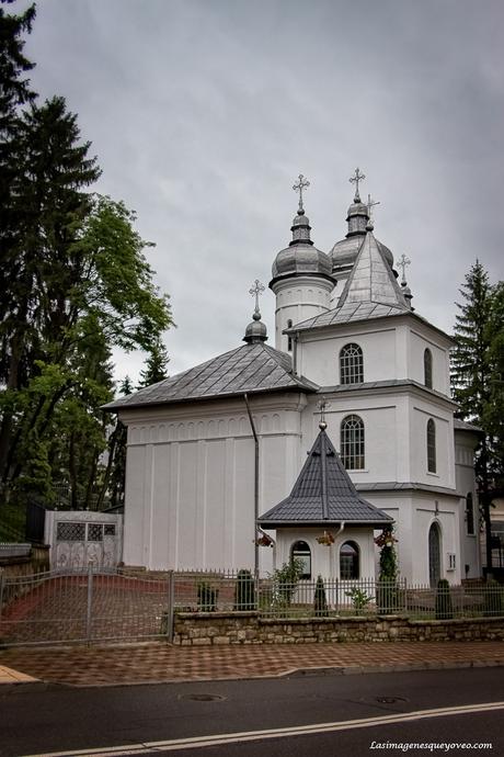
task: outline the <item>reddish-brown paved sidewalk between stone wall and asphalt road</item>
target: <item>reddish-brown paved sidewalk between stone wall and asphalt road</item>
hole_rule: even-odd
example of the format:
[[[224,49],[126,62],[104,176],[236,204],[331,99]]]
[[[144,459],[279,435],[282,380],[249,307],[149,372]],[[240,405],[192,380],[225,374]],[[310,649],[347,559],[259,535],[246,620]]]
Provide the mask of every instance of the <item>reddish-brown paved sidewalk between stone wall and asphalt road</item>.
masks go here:
[[[114,686],[271,678],[317,668],[348,675],[486,666],[504,666],[504,642],[12,647],[0,651],[0,685]]]

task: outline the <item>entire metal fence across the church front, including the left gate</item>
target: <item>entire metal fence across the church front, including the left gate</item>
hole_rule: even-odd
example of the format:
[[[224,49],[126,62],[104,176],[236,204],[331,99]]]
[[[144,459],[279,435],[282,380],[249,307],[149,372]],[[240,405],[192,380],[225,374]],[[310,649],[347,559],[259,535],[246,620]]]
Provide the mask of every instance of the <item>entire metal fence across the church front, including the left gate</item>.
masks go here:
[[[0,645],[105,642],[173,635],[176,612],[257,611],[264,618],[403,614],[412,619],[504,615],[504,587],[433,589],[404,580],[254,579],[241,572],[130,574],[57,570],[8,578],[0,573]]]

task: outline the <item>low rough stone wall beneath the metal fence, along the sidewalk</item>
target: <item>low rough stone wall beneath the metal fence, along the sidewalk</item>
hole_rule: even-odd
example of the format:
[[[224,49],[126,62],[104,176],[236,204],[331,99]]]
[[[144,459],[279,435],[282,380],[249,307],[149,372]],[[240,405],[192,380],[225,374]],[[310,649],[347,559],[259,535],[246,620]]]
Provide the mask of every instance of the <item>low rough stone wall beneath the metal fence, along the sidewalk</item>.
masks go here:
[[[260,618],[256,612],[180,612],[173,643],[313,644],[323,642],[502,641],[504,618],[411,620],[403,615],[368,618]]]

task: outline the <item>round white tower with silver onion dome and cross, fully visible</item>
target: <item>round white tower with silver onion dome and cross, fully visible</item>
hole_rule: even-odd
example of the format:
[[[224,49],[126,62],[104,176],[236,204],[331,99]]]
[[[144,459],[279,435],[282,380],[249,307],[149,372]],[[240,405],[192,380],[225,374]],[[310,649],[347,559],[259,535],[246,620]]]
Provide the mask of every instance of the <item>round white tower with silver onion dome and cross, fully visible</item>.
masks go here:
[[[276,295],[275,347],[291,354],[296,336],[294,331],[284,331],[329,310],[334,287],[331,260],[310,238],[310,221],[305,212],[305,192],[309,187],[308,179],[299,173],[293,185],[298,194],[297,214],[290,227],[293,239],[276,256],[270,282]]]

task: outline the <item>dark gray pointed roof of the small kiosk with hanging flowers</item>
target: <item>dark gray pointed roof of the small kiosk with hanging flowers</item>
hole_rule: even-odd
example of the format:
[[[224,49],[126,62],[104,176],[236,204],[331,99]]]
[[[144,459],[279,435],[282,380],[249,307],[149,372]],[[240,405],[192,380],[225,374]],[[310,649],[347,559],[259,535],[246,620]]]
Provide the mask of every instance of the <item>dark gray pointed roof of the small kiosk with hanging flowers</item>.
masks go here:
[[[263,528],[341,523],[380,528],[392,521],[362,497],[324,430],[308,453],[290,495],[259,519]]]

